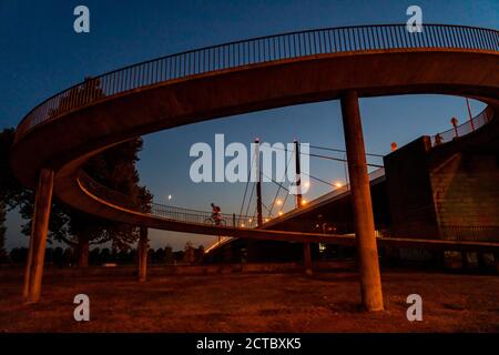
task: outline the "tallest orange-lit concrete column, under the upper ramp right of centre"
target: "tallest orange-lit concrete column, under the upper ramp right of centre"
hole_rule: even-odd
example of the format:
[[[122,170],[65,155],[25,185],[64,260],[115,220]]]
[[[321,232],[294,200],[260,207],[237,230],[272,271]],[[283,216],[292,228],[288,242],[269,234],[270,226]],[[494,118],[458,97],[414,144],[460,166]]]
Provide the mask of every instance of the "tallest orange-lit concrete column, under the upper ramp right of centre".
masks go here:
[[[355,216],[363,304],[367,311],[383,311],[378,248],[357,92],[354,90],[345,92],[340,98],[340,103]]]

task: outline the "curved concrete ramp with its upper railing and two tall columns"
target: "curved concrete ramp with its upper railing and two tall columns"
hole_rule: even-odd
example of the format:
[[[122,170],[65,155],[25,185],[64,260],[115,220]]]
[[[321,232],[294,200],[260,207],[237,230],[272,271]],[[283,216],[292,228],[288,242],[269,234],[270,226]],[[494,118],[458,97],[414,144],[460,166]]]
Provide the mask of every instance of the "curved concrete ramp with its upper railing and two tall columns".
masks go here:
[[[470,64],[472,63],[472,64]],[[358,98],[408,93],[466,95],[499,108],[499,32],[426,24],[360,26],[292,32],[169,55],[90,78],[41,103],[19,124],[11,165],[26,186],[37,186],[34,265],[26,284],[38,300],[50,199],[102,217],[202,234],[215,226],[133,211],[115,194],[82,183],[92,155],[136,136],[223,118],[306,102],[342,100],[349,176],[356,213],[363,300],[381,310],[379,270],[365,163]],[[238,231],[263,236],[262,231]],[[231,235],[230,231],[220,233]],[[279,239],[278,232],[265,232]],[[249,236],[249,234],[248,234]],[[294,237],[294,236],[293,236]],[[303,236],[302,241],[308,236]],[[317,241],[322,236],[314,236]],[[330,237],[330,236],[329,236]],[[288,240],[291,237],[288,236]],[[339,242],[339,240],[337,240]],[[30,278],[31,277],[31,278]],[[31,280],[31,281],[30,281]]]

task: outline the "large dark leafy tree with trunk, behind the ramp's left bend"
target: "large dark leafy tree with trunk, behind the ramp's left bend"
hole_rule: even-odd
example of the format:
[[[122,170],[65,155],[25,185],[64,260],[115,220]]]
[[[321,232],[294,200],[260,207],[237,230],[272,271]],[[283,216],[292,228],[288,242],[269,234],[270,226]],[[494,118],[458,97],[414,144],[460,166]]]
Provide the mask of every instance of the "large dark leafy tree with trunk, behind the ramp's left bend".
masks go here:
[[[105,97],[99,79],[86,78],[82,85],[70,90],[60,99],[57,109],[49,113],[54,118]],[[141,210],[147,210],[152,194],[139,185],[139,172],[135,163],[142,150],[142,139],[134,139],[90,159],[83,170],[100,184],[130,196],[131,201]],[[78,251],[78,264],[85,267],[89,263],[90,245],[111,242],[113,250],[129,250],[139,239],[139,229],[120,222],[104,220],[70,209],[70,235],[72,239],[60,237],[61,241],[73,245]]]

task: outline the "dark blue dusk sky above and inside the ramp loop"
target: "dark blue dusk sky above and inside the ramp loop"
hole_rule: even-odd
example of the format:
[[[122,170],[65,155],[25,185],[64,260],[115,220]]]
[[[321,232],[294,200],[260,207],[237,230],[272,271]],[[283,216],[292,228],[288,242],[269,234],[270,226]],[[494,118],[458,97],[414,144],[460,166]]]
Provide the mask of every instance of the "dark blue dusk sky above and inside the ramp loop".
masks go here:
[[[91,32],[73,31],[73,9],[85,4]],[[499,2],[490,1],[0,1],[0,128],[16,125],[48,97],[109,70],[233,40],[279,32],[349,24],[405,23],[410,4],[422,8],[427,23],[454,23],[498,28]],[[462,98],[411,95],[360,101],[366,146],[387,153],[421,134],[449,128],[452,115],[466,120]],[[482,105],[473,102],[473,113]],[[226,142],[302,142],[343,148],[338,102],[324,102],[255,112],[145,136],[141,154],[142,183],[155,201],[206,210],[210,202],[223,212],[238,212],[244,184],[194,184],[189,179],[193,161],[189,149],[195,142],[213,145],[214,134]],[[314,161],[312,173],[328,181],[344,181],[340,163]],[[310,200],[328,191],[313,182]],[[264,185],[269,203],[275,186]],[[291,205],[289,205],[291,206]],[[20,221],[9,214],[7,246],[24,245]],[[152,231],[152,246],[170,243],[182,247],[185,237],[194,244],[212,239]]]

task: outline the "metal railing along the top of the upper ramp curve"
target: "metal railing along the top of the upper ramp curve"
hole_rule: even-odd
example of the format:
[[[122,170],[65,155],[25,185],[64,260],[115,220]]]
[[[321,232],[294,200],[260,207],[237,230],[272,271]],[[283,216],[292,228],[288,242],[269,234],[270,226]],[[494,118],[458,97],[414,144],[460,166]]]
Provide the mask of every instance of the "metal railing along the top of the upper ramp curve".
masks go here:
[[[53,95],[24,116],[18,125],[17,140],[40,123],[104,98],[172,80],[309,55],[425,48],[498,51],[499,31],[449,24],[425,24],[422,32],[408,32],[406,24],[357,26],[289,32],[186,51],[89,78]]]

